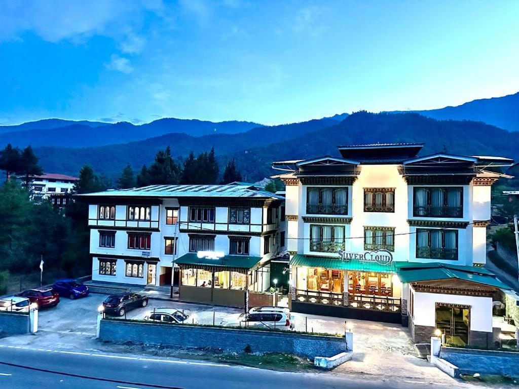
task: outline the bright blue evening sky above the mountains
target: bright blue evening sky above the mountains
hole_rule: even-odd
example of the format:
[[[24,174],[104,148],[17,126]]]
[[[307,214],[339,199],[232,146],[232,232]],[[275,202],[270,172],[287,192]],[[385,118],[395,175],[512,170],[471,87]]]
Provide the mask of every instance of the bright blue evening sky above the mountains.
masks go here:
[[[279,124],[519,90],[519,2],[0,0],[0,124]]]

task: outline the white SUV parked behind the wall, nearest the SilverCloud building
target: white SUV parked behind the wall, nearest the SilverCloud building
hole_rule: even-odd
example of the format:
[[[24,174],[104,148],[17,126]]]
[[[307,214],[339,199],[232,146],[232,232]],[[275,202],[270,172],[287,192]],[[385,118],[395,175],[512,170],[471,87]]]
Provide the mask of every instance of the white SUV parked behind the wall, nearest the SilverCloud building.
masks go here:
[[[222,325],[232,327],[264,327],[285,330],[294,329],[293,316],[284,311],[262,311],[255,313],[235,313],[228,315]]]

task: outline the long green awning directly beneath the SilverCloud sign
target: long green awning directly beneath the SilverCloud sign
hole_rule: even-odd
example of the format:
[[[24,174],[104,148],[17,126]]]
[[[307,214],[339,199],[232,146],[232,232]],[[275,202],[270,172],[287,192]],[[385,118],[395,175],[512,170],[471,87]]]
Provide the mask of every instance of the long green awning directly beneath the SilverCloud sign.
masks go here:
[[[394,273],[393,262],[389,265],[380,265],[372,261],[358,259],[342,260],[339,258],[316,257],[304,254],[295,254],[290,260],[291,266],[307,266],[310,268],[339,269],[351,271],[366,271],[375,273]]]

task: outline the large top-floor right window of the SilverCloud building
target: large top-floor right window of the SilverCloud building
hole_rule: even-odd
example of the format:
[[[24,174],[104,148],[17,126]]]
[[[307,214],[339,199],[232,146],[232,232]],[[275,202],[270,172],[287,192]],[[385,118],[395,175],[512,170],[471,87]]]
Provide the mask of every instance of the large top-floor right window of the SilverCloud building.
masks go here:
[[[463,217],[463,188],[414,188],[413,216]]]

